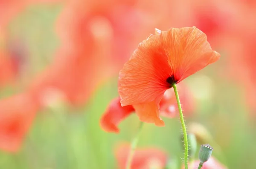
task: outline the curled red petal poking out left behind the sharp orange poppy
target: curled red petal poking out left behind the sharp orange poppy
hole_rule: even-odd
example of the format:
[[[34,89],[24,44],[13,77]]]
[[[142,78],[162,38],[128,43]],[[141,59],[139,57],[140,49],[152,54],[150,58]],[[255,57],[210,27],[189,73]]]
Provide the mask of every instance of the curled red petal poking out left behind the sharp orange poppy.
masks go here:
[[[106,132],[119,133],[118,124],[134,112],[133,106],[121,106],[120,97],[111,101],[100,120],[100,125]]]

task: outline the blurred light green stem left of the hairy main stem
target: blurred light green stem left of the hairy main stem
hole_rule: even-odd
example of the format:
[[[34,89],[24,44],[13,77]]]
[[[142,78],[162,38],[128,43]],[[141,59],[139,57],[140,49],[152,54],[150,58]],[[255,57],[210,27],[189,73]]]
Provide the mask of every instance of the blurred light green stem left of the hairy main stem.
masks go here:
[[[137,143],[139,141],[139,136],[140,136],[140,132],[141,132],[141,129],[143,127],[143,122],[141,121],[140,122],[140,126],[139,126],[139,129],[135,135],[135,137],[133,138],[133,140],[131,141],[131,149],[130,149],[130,152],[129,152],[129,155],[128,155],[128,158],[127,158],[127,162],[126,162],[126,167],[125,169],[131,169],[131,161],[132,161],[132,158],[133,158],[133,155],[134,155],[134,151],[136,149],[136,146],[137,146]]]

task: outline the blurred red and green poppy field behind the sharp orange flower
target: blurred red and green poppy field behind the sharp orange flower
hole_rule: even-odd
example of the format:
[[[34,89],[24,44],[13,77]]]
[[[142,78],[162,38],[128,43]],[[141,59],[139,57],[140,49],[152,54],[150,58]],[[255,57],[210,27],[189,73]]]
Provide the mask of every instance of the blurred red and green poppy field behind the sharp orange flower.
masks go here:
[[[207,143],[203,169],[255,169],[254,0],[0,0],[0,169],[127,169],[142,116],[120,104],[120,70],[143,40],[192,26],[221,57],[177,84],[189,169]],[[144,124],[131,169],[183,169],[173,89],[159,102],[165,126]]]

